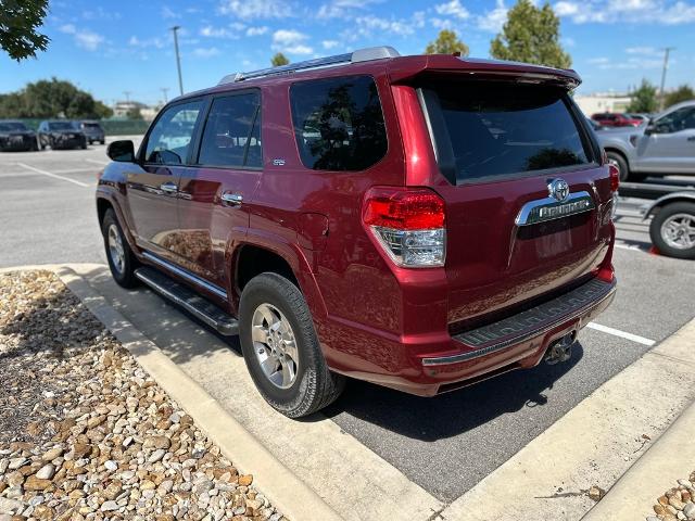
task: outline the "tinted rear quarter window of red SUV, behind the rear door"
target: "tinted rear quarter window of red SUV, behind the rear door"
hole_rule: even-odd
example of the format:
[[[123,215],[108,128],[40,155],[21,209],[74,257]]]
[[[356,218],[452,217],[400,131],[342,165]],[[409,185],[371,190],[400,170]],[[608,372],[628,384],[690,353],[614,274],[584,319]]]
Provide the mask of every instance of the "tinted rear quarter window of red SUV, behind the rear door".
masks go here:
[[[387,152],[377,86],[368,76],[295,84],[292,120],[302,163],[315,170],[364,170]]]

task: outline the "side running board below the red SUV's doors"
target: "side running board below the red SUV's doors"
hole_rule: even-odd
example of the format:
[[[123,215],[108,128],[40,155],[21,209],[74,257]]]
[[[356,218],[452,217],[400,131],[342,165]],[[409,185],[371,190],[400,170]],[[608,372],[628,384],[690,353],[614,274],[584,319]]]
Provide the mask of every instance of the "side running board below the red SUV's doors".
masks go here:
[[[229,316],[188,287],[170,279],[162,271],[142,267],[135,270],[135,276],[160,295],[179,305],[207,326],[216,329],[220,334],[239,334],[239,322],[236,318]]]

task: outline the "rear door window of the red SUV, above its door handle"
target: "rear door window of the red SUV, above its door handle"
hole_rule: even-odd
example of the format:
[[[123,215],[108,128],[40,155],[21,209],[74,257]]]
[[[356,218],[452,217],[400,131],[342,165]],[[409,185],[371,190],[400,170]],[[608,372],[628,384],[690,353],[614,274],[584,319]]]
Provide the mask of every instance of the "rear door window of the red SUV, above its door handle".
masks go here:
[[[216,98],[205,122],[198,164],[243,167],[262,163],[261,96]]]

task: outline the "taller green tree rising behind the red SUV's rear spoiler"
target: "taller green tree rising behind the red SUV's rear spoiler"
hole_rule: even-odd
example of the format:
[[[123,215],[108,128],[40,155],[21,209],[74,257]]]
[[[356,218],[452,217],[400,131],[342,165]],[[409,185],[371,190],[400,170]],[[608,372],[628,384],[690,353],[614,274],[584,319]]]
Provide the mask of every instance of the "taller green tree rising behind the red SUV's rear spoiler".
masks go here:
[[[497,60],[569,68],[570,55],[560,46],[560,18],[545,3],[536,8],[530,0],[519,0],[509,10],[507,22],[490,42],[490,54]]]

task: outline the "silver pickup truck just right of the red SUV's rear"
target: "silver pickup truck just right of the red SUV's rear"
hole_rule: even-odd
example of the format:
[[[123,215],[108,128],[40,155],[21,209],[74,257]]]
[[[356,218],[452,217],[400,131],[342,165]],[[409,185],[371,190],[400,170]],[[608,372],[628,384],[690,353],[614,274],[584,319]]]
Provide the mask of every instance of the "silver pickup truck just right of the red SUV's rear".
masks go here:
[[[695,100],[670,106],[646,126],[602,132],[598,141],[621,180],[695,175]]]

